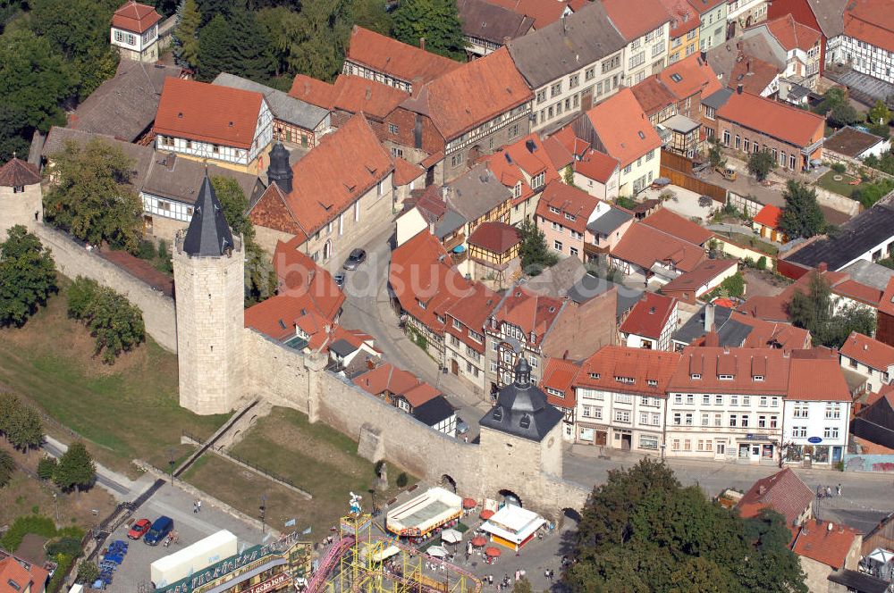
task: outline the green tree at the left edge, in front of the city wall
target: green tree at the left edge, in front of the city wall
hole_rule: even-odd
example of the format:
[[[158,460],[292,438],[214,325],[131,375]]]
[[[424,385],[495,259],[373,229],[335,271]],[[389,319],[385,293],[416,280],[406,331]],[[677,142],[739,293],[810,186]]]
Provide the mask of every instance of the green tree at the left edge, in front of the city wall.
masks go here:
[[[0,326],[21,327],[56,292],[55,263],[25,227],[6,231],[0,243]]]

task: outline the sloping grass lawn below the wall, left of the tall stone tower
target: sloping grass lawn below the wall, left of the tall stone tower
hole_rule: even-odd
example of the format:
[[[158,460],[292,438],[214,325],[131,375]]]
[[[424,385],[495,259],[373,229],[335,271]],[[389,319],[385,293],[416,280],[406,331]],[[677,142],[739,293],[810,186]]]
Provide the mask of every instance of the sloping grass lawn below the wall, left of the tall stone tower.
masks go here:
[[[0,386],[88,439],[100,463],[129,471],[139,457],[166,471],[169,449],[183,455],[181,430],[207,438],[226,417],[180,407],[177,357],[152,338],[113,366],[94,358],[93,338],[66,315],[70,282],[60,281],[59,294],[24,327],[0,329]],[[46,424],[50,434],[72,440]]]

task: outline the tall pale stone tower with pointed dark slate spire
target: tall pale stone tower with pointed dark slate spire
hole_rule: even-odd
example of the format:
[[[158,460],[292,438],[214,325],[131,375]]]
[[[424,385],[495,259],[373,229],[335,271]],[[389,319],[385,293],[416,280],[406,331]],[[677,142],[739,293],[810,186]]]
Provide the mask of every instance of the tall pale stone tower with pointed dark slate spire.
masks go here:
[[[173,249],[180,405],[195,413],[230,412],[242,397],[244,274],[241,240],[206,174]]]

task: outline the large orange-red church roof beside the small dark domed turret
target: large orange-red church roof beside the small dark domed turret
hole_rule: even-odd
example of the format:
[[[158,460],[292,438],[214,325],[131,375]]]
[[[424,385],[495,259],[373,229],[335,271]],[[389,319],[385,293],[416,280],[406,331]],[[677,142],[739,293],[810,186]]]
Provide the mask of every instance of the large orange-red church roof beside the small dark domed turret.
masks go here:
[[[291,165],[287,196],[275,183],[252,206],[251,221],[269,229],[311,237],[393,171],[391,155],[367,119],[353,116]]]

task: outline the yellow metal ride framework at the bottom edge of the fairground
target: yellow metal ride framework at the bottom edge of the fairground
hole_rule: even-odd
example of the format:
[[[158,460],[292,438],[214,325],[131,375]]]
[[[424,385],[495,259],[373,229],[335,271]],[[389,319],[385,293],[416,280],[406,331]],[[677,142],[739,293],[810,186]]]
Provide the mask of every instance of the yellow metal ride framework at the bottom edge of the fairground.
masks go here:
[[[353,544],[327,578],[327,593],[480,593],[481,581],[472,573],[427,557],[397,538],[376,535],[373,526],[369,514],[342,517],[340,539],[352,538]],[[390,547],[398,552],[385,558]],[[424,572],[426,564],[438,567],[434,575]]]

